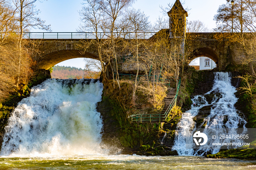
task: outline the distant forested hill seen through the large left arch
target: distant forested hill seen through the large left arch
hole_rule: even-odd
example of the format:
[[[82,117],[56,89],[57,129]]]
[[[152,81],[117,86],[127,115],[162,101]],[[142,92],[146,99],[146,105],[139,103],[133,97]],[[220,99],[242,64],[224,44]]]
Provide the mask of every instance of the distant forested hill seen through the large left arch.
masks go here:
[[[84,70],[76,67],[54,66],[51,73],[52,78],[68,79],[68,78],[83,78]]]

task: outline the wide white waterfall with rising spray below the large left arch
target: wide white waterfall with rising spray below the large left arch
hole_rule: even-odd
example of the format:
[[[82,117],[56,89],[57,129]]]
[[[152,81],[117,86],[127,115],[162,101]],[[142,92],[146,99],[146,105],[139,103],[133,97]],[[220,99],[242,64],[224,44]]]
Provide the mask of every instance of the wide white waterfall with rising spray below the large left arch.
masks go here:
[[[12,112],[0,155],[101,154],[102,118],[96,111],[98,80],[48,79],[31,89]]]

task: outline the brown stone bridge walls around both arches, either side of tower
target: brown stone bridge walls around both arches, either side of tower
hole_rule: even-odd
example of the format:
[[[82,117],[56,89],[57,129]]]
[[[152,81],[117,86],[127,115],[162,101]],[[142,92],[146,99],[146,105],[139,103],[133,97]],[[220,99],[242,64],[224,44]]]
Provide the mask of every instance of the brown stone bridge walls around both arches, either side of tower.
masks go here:
[[[230,43],[228,40],[218,41],[214,39],[219,33],[187,33],[185,43],[186,51],[189,51],[189,61],[197,57],[211,58],[219,71],[227,65],[240,64],[244,53],[239,43]],[[40,58],[38,67],[49,69],[59,62],[72,58],[93,58],[98,59],[97,49],[89,49],[90,52],[80,54],[76,44],[81,43],[81,39],[38,39],[36,41]]]

